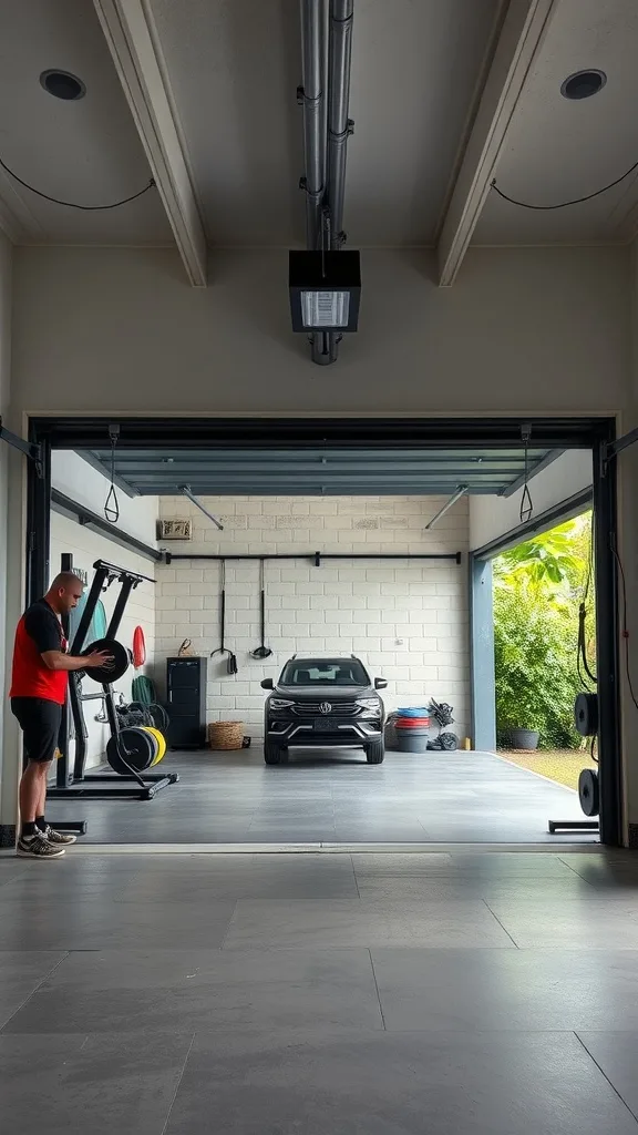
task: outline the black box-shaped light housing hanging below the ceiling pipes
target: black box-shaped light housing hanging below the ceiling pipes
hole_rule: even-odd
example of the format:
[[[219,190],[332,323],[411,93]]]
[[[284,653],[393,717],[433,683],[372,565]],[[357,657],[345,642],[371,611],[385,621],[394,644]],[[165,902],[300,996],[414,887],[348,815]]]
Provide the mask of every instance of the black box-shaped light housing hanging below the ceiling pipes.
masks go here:
[[[355,331],[361,301],[361,258],[339,252],[288,253],[294,331]]]

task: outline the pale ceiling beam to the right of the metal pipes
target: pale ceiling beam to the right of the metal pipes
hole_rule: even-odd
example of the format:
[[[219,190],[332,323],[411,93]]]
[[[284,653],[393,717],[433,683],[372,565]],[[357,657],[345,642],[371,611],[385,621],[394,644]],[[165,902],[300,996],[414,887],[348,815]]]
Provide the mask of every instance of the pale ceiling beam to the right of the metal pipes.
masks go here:
[[[559,0],[510,0],[438,239],[439,286],[451,287],[478,224],[512,116]]]

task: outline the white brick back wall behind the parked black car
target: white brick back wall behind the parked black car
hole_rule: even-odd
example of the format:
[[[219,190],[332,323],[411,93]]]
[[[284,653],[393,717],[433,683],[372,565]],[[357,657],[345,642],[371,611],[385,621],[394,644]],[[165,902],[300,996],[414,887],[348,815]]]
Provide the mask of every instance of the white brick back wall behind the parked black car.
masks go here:
[[[208,715],[241,718],[262,734],[262,678],[275,678],[292,654],[356,654],[389,686],[388,708],[429,697],[455,708],[461,737],[469,722],[468,587],[465,558],[383,562],[378,554],[451,554],[468,548],[468,502],[462,499],[431,531],[425,526],[444,503],[435,497],[205,497],[225,526],[220,532],[183,497],[162,497],[163,519],[191,516],[193,540],[174,553],[268,555],[299,561],[266,564],[266,662],[259,645],[259,564],[226,565],[226,645],[238,674],[209,662]],[[366,554],[367,561],[327,561],[314,568],[304,553]],[[219,646],[220,565],[178,561],[157,569],[157,658],[190,638],[198,654]]]

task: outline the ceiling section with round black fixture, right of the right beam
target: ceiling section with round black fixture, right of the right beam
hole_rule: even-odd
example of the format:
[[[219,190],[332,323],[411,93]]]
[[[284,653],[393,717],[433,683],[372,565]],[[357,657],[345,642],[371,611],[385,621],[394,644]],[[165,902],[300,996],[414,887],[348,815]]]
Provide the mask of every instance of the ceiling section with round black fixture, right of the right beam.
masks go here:
[[[590,99],[564,99],[563,81],[587,67],[605,72],[606,85]],[[638,161],[637,106],[637,0],[561,0],[514,111],[497,184],[534,204],[602,188]],[[475,241],[622,241],[633,235],[637,202],[638,170],[594,201],[554,211],[520,209],[490,192]]]

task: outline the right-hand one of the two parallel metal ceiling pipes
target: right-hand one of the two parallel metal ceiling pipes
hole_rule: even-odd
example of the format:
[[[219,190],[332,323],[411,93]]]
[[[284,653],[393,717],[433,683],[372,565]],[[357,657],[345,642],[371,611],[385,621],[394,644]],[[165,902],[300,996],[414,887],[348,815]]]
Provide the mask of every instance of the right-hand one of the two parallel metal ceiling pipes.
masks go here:
[[[344,243],[343,204],[345,159],[352,123],[347,117],[352,60],[354,0],[330,0],[330,42],[328,73],[328,204],[330,209],[330,249]]]

